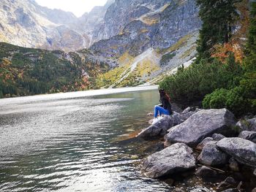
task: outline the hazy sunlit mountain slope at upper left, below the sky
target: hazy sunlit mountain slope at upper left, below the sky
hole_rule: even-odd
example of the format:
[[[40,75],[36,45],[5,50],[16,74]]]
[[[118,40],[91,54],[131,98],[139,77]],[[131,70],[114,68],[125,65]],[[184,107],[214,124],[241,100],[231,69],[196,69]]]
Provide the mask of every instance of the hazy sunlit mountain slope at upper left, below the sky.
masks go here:
[[[71,12],[41,7],[34,0],[1,0],[0,42],[67,52],[89,47],[88,26],[104,17],[101,9],[107,9],[109,2],[105,7],[94,8],[87,18],[76,18]]]

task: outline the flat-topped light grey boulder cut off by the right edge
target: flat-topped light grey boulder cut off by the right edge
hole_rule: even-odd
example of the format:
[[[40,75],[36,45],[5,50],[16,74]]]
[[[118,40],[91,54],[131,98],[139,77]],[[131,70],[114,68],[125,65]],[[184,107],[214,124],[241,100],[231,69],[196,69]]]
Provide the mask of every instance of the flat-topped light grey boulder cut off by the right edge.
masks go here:
[[[241,164],[256,167],[256,144],[238,137],[224,138],[217,142],[217,147],[233,156]]]

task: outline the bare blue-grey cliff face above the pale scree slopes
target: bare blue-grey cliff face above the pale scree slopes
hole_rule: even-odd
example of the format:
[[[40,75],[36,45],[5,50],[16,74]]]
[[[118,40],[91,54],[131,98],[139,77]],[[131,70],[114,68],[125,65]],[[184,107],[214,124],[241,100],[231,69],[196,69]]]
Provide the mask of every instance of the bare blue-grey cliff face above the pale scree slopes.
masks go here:
[[[91,45],[90,50],[105,57],[126,52],[137,56],[150,47],[170,47],[200,26],[195,0],[115,1],[97,30],[97,36],[104,38]]]

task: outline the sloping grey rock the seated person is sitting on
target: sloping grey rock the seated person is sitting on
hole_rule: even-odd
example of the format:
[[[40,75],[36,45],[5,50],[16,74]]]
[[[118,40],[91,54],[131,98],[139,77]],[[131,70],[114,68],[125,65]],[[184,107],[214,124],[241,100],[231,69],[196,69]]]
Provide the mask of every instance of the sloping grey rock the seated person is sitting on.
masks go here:
[[[148,128],[143,129],[137,137],[143,139],[152,139],[154,137],[164,136],[167,134],[167,130],[173,126],[176,126],[184,122],[183,118],[178,112],[173,112],[173,115],[165,115],[164,118],[157,121]]]

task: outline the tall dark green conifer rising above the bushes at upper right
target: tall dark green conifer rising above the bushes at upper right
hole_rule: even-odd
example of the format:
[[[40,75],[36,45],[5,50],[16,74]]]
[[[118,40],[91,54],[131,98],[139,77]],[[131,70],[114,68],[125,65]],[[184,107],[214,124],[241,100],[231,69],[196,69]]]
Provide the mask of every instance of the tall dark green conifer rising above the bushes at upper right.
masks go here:
[[[229,42],[233,23],[238,18],[235,4],[241,0],[197,0],[203,21],[197,41],[197,59],[210,58],[211,48]]]

